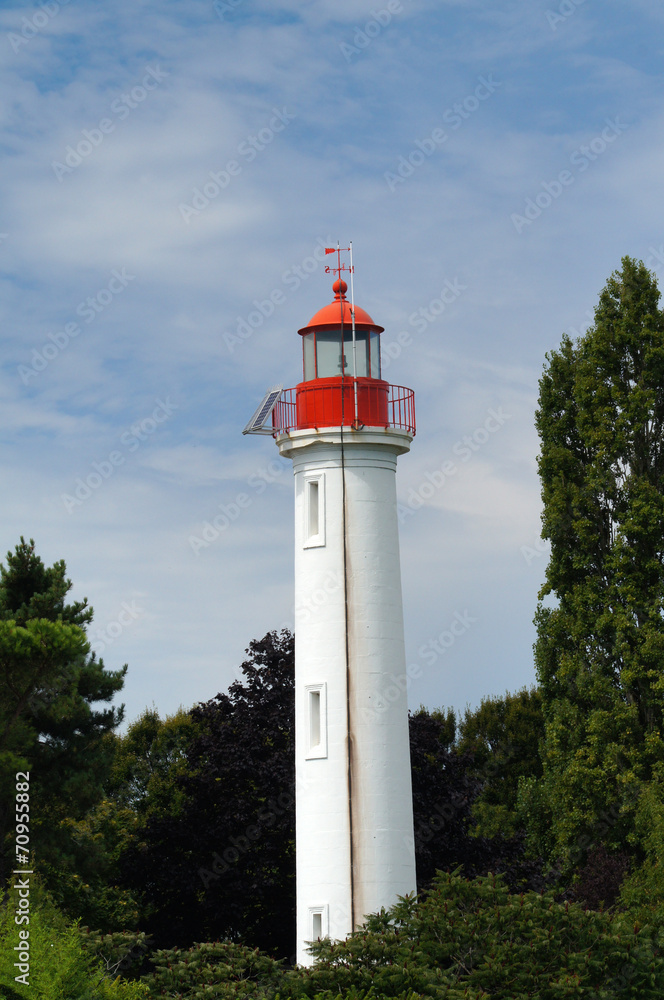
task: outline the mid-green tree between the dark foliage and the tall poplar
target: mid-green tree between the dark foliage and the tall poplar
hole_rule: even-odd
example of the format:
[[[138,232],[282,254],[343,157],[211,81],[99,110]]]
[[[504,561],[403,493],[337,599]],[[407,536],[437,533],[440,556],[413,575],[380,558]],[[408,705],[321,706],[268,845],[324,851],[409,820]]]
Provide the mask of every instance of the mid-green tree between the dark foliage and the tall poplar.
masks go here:
[[[482,793],[473,805],[477,836],[516,833],[519,782],[541,777],[543,736],[542,698],[537,688],[483,698],[474,712],[466,709],[457,746],[473,754],[474,768],[483,781]]]

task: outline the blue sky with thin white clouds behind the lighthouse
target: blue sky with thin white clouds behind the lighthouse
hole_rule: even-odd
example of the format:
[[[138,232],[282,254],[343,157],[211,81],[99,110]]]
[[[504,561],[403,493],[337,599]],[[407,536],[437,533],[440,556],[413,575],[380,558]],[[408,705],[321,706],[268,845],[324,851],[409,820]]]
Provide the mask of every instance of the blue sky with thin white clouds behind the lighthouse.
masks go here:
[[[337,241],[415,390],[409,703],[535,683],[538,380],[624,255],[661,285],[663,39],[661,0],[0,4],[0,552],[65,559],[127,721],[292,627],[292,468],[241,431]]]

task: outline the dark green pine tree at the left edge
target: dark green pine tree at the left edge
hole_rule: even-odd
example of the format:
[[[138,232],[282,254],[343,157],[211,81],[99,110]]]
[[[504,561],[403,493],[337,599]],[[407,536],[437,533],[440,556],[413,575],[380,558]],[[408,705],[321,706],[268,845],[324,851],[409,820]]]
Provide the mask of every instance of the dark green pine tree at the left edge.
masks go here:
[[[23,538],[0,567],[0,847],[8,861],[14,774],[30,771],[31,846],[56,867],[71,849],[66,820],[102,795],[111,762],[107,735],[123,709],[109,703],[126,666],[106,670],[90,654],[87,600],[67,603],[63,561],[50,568]]]

